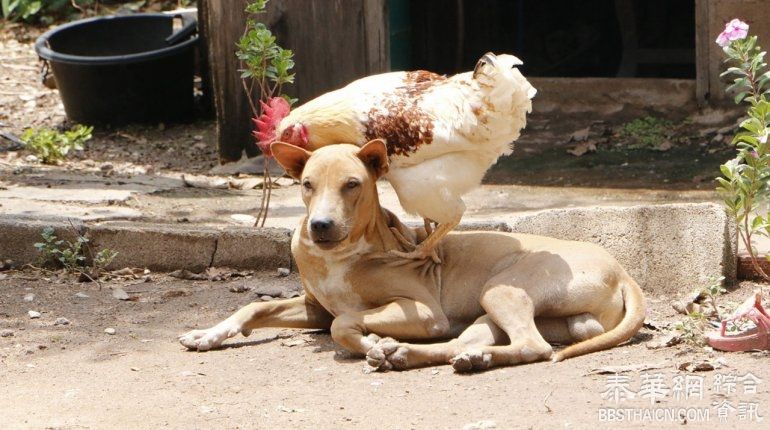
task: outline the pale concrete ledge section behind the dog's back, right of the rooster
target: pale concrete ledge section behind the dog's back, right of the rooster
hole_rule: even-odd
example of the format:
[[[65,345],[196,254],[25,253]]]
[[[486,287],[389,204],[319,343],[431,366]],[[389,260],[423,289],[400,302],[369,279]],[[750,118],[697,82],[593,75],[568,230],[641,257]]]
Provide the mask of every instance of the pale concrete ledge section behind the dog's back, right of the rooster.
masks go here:
[[[683,293],[711,276],[735,282],[737,230],[713,203],[554,209],[508,220],[511,231],[603,246],[647,291]]]

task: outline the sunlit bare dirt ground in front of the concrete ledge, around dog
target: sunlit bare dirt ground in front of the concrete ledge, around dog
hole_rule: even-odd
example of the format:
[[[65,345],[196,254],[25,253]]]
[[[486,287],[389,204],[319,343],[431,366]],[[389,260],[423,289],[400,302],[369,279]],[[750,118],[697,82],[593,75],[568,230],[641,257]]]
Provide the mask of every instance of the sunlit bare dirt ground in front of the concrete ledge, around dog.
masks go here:
[[[0,427],[56,428],[588,428],[596,425],[681,428],[662,422],[602,418],[602,408],[709,408],[695,428],[766,428],[741,419],[739,404],[755,403],[770,416],[767,353],[719,353],[678,345],[649,349],[663,327],[678,320],[670,299],[648,293],[646,326],[629,344],[563,363],[535,363],[483,373],[455,374],[450,366],[405,372],[362,371],[363,362],[340,350],[328,333],[262,329],[224,349],[188,352],[176,337],[208,327],[259,297],[298,288],[297,278],[256,273],[225,282],[182,281],[162,274],[143,279],[77,283],[69,276],[34,270],[0,276]],[[251,291],[231,292],[233,286]],[[113,297],[121,287],[130,301]],[[742,300],[754,285],[724,297]],[[237,289],[237,288],[236,288]],[[24,297],[34,294],[31,302]],[[87,298],[77,297],[83,293]],[[27,312],[41,312],[31,319]],[[66,318],[67,325],[56,325]],[[105,333],[113,328],[114,335]],[[10,333],[10,335],[8,335]],[[708,362],[717,369],[678,370]],[[621,373],[629,390],[663,378],[670,392],[657,400],[637,395],[615,403],[603,366],[652,367]],[[720,388],[724,375],[760,378],[756,394]],[[703,399],[674,397],[676,377],[703,381]],[[717,376],[722,375],[722,376]],[[609,391],[608,391],[609,390]],[[735,405],[725,421],[717,407]],[[695,412],[684,412],[695,413]],[[695,417],[695,415],[693,415]],[[768,418],[765,418],[768,419]]]

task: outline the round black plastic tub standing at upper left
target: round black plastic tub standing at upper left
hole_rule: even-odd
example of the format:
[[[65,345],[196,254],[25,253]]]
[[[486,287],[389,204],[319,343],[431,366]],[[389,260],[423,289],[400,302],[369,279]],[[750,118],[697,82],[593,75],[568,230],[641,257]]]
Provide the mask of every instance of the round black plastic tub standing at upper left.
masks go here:
[[[91,18],[40,36],[35,50],[50,64],[67,117],[85,124],[190,120],[198,36],[188,23],[181,40],[167,41],[175,19]]]

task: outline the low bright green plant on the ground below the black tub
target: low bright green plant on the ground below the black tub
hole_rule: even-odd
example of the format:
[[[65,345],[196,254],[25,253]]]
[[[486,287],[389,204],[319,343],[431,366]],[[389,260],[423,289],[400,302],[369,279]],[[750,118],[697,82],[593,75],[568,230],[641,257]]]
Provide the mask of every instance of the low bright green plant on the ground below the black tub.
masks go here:
[[[21,140],[43,163],[56,164],[64,160],[70,151],[82,150],[83,144],[91,139],[93,130],[93,127],[83,125],[76,125],[63,133],[50,128],[28,128],[21,135]]]

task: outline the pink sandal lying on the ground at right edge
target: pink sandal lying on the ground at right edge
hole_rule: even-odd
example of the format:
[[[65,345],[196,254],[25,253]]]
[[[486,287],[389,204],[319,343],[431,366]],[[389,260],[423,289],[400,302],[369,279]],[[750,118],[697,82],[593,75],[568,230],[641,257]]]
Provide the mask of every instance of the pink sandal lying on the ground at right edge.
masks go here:
[[[737,334],[726,334],[727,323],[739,320],[749,320],[756,327]],[[733,316],[722,320],[719,332],[706,336],[708,344],[721,351],[751,351],[770,350],[770,314],[762,307],[762,294],[757,291],[742,305],[738,306]]]

